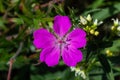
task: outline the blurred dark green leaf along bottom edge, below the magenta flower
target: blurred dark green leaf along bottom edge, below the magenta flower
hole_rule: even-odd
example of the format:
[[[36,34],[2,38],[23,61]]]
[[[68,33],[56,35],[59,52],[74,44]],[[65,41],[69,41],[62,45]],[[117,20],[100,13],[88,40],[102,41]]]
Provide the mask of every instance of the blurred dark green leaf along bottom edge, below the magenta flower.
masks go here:
[[[56,71],[54,73],[49,72],[46,73],[45,75],[32,74],[31,80],[75,80],[75,79],[74,74],[70,72],[69,69],[65,69],[64,71]]]

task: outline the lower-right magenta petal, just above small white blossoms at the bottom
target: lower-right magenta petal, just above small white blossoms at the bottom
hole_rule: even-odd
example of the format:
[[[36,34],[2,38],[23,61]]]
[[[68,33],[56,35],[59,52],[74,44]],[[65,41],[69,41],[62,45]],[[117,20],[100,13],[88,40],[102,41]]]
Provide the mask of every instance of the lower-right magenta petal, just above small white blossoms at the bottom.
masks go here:
[[[65,48],[62,51],[62,58],[66,65],[76,66],[83,58],[82,52],[76,48]]]

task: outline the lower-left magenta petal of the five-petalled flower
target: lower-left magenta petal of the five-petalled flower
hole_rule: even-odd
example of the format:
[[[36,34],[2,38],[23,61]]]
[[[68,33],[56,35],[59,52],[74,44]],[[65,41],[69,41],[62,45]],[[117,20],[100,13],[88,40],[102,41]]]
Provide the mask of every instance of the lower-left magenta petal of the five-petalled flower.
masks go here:
[[[48,47],[43,49],[40,53],[41,62],[45,62],[48,66],[55,66],[60,59],[60,50],[55,47]]]

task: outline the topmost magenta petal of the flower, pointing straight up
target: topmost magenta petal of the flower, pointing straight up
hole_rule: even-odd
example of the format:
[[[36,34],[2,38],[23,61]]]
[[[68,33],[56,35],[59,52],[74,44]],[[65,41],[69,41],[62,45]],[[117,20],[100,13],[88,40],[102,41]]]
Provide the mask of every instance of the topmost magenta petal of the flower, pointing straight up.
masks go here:
[[[57,15],[54,18],[54,31],[59,36],[64,36],[71,27],[71,21],[68,16]]]

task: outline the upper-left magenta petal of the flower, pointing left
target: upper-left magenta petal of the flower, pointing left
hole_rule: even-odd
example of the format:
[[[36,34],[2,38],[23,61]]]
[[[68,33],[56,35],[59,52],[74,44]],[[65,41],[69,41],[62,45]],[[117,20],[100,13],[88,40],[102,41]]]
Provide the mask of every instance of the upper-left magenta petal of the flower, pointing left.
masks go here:
[[[55,37],[48,32],[46,29],[39,29],[33,33],[34,41],[33,44],[36,48],[45,48],[52,46],[55,41]]]

